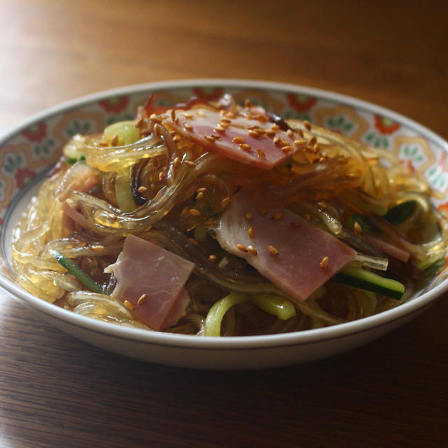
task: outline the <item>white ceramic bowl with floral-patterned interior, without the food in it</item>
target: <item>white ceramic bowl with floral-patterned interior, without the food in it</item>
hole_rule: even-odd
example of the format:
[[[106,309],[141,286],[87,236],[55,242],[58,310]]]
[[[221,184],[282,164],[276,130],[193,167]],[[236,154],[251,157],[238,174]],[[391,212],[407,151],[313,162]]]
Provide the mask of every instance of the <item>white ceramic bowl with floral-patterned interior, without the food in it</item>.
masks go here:
[[[9,269],[10,235],[38,180],[73,134],[99,132],[109,123],[133,118],[137,106],[152,92],[157,95],[156,104],[185,101],[192,94],[216,99],[230,92],[286,118],[310,120],[386,148],[426,176],[435,207],[448,210],[448,143],[379,106],[309,87],[251,80],[178,80],[99,92],[43,111],[0,140],[0,286],[45,321],[90,344],[155,363],[210,369],[274,367],[324,358],[369,342],[411,320],[447,290],[448,267],[444,267],[412,300],[375,316],[282,335],[223,338],[121,328],[66,311],[23,290]]]

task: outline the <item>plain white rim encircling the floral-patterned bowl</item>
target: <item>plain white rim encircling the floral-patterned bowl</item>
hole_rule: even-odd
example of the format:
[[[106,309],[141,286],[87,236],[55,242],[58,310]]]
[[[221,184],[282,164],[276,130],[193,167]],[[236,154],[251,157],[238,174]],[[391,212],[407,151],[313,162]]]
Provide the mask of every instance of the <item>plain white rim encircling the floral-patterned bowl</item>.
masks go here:
[[[79,109],[92,102],[98,102],[108,97],[120,96],[124,94],[138,94],[139,92],[167,90],[183,87],[209,87],[212,85],[219,85],[220,87],[244,87],[253,89],[270,90],[275,92],[300,92],[309,94],[313,97],[327,99],[332,102],[352,106],[356,109],[367,111],[368,113],[376,113],[381,116],[387,116],[392,120],[398,121],[403,125],[412,128],[414,131],[421,134],[423,137],[432,141],[436,146],[440,146],[448,153],[448,142],[440,135],[429,130],[427,127],[417,123],[416,121],[402,116],[400,113],[386,109],[383,106],[378,106],[371,102],[366,102],[363,99],[351,97],[345,94],[330,92],[315,87],[307,87],[304,85],[295,85],[290,83],[277,83],[265,80],[247,80],[239,78],[195,78],[195,79],[179,79],[159,81],[155,83],[140,83],[134,85],[127,85],[124,87],[113,88],[109,90],[102,90],[87,94],[82,97],[71,99],[67,102],[62,102],[56,106],[44,109],[38,112],[27,120],[22,121],[8,132],[0,137],[0,147],[6,141],[15,137],[22,130],[39,121],[52,118],[57,114],[70,109]],[[173,333],[156,332],[151,330],[143,330],[139,328],[126,328],[120,325],[111,325],[110,323],[96,321],[93,318],[80,316],[66,309],[55,306],[50,302],[39,299],[26,290],[23,290],[18,284],[6,279],[0,274],[0,288],[6,290],[10,295],[22,300],[29,306],[38,311],[47,314],[52,318],[63,321],[66,324],[77,328],[89,330],[102,335],[109,335],[127,341],[143,342],[153,346],[165,346],[170,348],[188,348],[200,350],[247,350],[247,349],[267,349],[267,348],[284,348],[290,346],[300,346],[307,344],[314,344],[316,342],[323,342],[330,339],[339,339],[342,337],[349,337],[358,333],[380,328],[385,325],[390,325],[395,321],[400,321],[403,318],[411,317],[417,314],[426,307],[429,307],[432,302],[440,298],[442,293],[448,290],[448,278],[444,279],[435,288],[422,293],[409,302],[405,302],[398,307],[388,309],[374,316],[358,319],[332,325],[325,328],[315,328],[312,330],[303,330],[300,332],[288,332],[275,335],[255,335],[255,336],[235,336],[235,337],[196,337],[193,335],[176,335]]]

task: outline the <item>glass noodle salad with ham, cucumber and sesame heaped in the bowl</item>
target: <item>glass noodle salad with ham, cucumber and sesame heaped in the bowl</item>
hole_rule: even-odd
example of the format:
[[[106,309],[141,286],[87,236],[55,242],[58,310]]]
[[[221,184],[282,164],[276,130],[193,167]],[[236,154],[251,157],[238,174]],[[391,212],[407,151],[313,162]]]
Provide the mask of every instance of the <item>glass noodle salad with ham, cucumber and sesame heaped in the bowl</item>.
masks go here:
[[[258,335],[379,313],[440,269],[447,225],[426,182],[391,153],[228,95],[153,100],[64,147],[13,235],[29,292],[120,325]],[[311,237],[328,253],[302,251]],[[144,265],[151,253],[185,279],[161,280]],[[137,293],[125,283],[140,280],[123,277],[136,260],[150,277]]]

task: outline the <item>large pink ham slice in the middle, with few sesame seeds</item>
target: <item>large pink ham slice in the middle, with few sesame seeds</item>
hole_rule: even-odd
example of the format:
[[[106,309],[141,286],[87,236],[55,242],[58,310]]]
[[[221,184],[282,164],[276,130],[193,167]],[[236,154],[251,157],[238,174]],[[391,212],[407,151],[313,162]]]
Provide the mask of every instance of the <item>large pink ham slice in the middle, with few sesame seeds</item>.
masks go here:
[[[248,232],[250,227],[255,234],[252,238]],[[214,230],[226,251],[245,258],[260,274],[299,302],[306,300],[356,255],[342,241],[292,211],[269,209],[260,213],[245,190],[232,198]],[[257,254],[241,251],[239,244],[246,249],[252,246]],[[269,246],[278,254],[272,254]],[[325,257],[328,263],[321,267]]]

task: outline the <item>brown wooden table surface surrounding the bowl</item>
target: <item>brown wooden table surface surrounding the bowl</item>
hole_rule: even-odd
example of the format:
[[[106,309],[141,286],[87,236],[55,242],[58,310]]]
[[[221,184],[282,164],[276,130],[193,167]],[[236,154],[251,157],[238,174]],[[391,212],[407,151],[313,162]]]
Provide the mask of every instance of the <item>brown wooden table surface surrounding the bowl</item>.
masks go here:
[[[445,2],[0,3],[0,131],[120,85],[232,77],[376,102],[448,138]],[[441,447],[448,297],[377,342],[255,372],[96,349],[0,295],[0,447]]]

